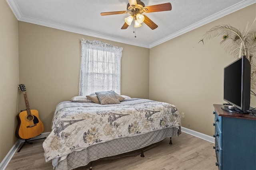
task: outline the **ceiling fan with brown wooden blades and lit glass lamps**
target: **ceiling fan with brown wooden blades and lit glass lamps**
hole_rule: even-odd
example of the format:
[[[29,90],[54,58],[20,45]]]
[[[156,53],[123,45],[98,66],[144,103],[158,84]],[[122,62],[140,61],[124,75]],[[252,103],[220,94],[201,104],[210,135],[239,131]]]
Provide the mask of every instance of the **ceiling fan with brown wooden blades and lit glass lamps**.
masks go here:
[[[115,14],[131,14],[125,18],[125,23],[121,29],[128,28],[134,20],[134,27],[140,27],[141,23],[144,22],[151,29],[156,29],[158,25],[150,20],[146,15],[142,15],[143,12],[161,12],[161,11],[170,11],[172,10],[172,5],[170,2],[152,6],[145,6],[140,0],[128,0],[127,10],[126,11],[114,11],[114,12],[102,12],[101,16],[115,15]]]

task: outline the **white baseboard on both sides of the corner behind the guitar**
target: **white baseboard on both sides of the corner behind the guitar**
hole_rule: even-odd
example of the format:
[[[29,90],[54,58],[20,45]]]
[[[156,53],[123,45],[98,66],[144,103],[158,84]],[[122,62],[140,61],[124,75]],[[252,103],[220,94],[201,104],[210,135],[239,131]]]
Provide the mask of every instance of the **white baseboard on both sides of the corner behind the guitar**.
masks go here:
[[[33,137],[30,140],[48,137],[49,134],[50,134],[50,132],[42,133],[41,135],[39,135],[37,137]],[[28,141],[30,141],[30,140],[28,140]],[[6,154],[6,156],[4,157],[2,162],[0,163],[0,170],[5,170],[6,166],[9,164],[10,160],[12,159],[12,156],[16,153],[16,151],[20,147],[20,144],[22,144],[24,141],[25,140],[21,140],[21,139],[18,139],[16,141],[16,143],[12,146],[10,151]]]

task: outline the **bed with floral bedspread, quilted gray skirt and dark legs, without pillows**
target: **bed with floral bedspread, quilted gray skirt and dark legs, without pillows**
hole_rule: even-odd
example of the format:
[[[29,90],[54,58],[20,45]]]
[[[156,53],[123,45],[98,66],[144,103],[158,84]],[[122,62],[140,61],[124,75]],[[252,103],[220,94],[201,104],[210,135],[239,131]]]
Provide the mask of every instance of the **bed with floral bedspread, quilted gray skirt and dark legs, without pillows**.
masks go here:
[[[65,101],[56,106],[52,131],[43,143],[44,156],[46,162],[52,160],[54,169],[71,170],[177,137],[180,126],[177,108],[164,102],[140,98],[118,104]]]

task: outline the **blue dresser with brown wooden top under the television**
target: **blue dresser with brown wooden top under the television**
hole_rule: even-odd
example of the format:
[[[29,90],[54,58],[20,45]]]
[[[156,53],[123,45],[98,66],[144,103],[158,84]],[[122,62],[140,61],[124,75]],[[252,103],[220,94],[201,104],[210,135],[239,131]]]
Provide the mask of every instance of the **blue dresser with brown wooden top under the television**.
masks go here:
[[[219,170],[256,170],[256,115],[230,113],[214,104],[216,166]]]

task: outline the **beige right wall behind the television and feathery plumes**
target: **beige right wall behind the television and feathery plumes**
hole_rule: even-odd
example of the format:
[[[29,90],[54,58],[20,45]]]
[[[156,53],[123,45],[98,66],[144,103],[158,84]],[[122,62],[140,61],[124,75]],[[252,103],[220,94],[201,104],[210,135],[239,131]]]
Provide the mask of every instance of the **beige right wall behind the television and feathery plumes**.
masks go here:
[[[212,136],[212,104],[224,103],[223,68],[235,59],[220,47],[222,37],[205,45],[198,41],[215,25],[230,24],[242,31],[255,16],[256,4],[151,48],[150,99],[176,105],[185,113],[183,127]]]

